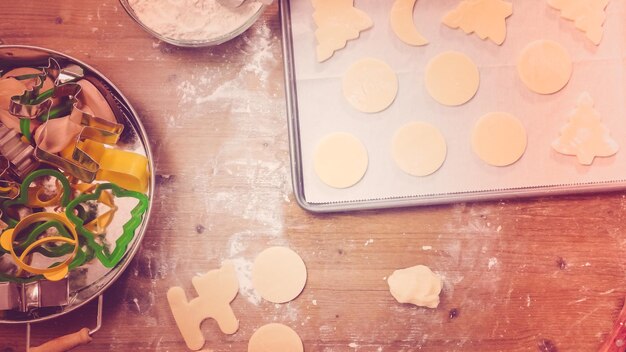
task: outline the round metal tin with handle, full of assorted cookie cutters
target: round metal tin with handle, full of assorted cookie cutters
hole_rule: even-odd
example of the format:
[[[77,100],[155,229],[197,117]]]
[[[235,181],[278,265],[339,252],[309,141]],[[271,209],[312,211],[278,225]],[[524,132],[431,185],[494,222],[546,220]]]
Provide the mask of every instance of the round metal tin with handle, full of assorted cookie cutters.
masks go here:
[[[103,291],[139,248],[152,153],[128,100],[89,65],[0,45],[0,76],[0,323],[26,324],[27,350],[65,351],[98,331]],[[95,298],[95,328],[30,347],[32,323]]]

